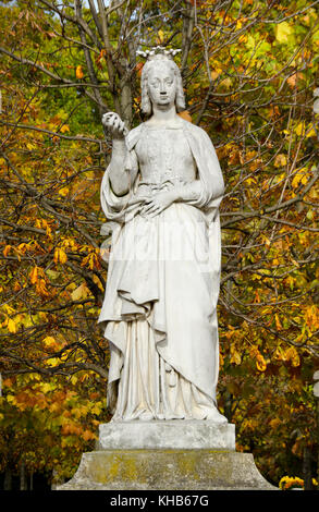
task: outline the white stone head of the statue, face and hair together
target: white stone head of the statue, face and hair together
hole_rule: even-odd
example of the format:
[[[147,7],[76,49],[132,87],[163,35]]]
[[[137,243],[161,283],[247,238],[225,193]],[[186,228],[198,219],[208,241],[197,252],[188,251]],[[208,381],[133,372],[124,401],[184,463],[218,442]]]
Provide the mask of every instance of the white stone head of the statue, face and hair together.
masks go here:
[[[172,101],[177,112],[185,110],[182,76],[171,58],[158,53],[146,61],[142,71],[142,111],[150,115],[152,103],[160,107]]]

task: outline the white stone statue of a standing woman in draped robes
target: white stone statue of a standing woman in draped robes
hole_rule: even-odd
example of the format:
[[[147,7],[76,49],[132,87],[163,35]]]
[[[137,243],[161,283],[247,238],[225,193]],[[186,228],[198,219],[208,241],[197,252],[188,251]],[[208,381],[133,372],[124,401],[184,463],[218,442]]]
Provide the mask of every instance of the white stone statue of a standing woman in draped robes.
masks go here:
[[[210,138],[177,115],[181,74],[162,51],[142,73],[148,121],[128,134],[115,113],[101,184],[112,248],[106,296],[112,420],[209,419],[217,410],[219,204],[223,179]]]

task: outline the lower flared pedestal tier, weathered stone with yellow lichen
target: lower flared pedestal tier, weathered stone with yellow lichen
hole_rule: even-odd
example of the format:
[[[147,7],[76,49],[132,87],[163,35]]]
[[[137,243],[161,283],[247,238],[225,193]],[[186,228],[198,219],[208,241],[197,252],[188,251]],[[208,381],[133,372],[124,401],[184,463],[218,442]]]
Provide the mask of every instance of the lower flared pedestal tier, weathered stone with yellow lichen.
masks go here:
[[[274,490],[251,453],[211,449],[101,450],[84,453],[57,490]]]

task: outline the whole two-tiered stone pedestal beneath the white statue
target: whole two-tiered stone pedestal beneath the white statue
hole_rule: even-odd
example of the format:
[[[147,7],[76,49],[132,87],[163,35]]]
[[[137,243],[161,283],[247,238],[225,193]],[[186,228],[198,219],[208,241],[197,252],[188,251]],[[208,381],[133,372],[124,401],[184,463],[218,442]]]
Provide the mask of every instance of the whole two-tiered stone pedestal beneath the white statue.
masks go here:
[[[235,452],[235,426],[211,422],[100,425],[98,450],[84,453],[58,490],[274,489],[253,454]]]

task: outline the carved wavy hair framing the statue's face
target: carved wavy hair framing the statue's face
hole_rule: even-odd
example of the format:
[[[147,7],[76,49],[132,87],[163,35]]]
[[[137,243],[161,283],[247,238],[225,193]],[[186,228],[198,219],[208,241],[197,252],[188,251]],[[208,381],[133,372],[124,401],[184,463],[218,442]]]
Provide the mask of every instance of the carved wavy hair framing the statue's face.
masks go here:
[[[159,54],[154,56],[151,59],[148,59],[142,70],[142,80],[140,80],[142,111],[148,115],[151,114],[151,101],[148,95],[148,87],[147,87],[148,74],[152,68],[156,68],[161,62],[167,63],[171,68],[176,78],[176,97],[175,97],[176,111],[182,112],[183,110],[185,110],[185,96],[184,96],[180,69],[177,64],[170,57],[159,53]]]

